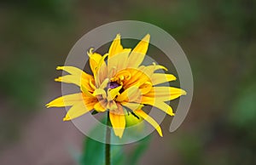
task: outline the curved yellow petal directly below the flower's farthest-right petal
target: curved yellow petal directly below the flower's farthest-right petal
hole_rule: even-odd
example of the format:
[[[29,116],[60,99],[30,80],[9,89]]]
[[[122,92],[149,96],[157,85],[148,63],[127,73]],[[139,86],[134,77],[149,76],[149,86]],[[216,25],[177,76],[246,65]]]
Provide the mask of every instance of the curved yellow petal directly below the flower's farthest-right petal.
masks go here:
[[[168,115],[174,116],[174,113],[172,111],[172,107],[170,105],[167,105],[165,102],[162,100],[154,99],[154,98],[149,98],[143,96],[143,99],[141,101],[142,104],[146,105],[152,105],[162,111],[165,111]]]

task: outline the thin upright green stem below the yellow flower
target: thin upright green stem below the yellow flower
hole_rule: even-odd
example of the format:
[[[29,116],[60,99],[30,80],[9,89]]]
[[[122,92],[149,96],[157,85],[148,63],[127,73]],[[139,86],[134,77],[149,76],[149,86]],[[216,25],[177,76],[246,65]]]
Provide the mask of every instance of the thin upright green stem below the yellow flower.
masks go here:
[[[109,111],[108,111],[108,117],[107,117],[107,127],[106,127],[106,143],[105,143],[105,162],[106,165],[110,165],[110,130],[109,130]]]

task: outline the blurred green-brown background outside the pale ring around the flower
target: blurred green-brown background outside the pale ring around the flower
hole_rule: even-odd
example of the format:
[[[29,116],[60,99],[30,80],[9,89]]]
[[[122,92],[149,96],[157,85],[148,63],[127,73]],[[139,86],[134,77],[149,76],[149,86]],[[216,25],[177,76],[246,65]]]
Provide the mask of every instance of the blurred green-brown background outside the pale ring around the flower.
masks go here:
[[[153,134],[138,164],[256,164],[254,0],[0,2],[0,164],[76,164],[84,134],[46,109],[73,44],[116,20],[160,26],[181,45],[195,81],[189,115]],[[131,146],[125,146],[130,150]]]

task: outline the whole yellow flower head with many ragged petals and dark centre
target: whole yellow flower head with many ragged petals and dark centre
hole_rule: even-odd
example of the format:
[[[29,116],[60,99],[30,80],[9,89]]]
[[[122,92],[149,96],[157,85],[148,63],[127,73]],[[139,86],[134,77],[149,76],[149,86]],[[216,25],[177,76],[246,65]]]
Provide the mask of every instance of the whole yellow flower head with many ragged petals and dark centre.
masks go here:
[[[58,66],[57,70],[67,71],[66,76],[56,82],[74,83],[81,89],[78,94],[63,95],[47,104],[47,107],[71,106],[63,121],[80,117],[95,110],[109,112],[113,132],[119,138],[125,130],[125,115],[130,113],[149,122],[162,136],[160,125],[143,111],[143,105],[153,105],[168,115],[174,116],[172,107],[165,101],[174,100],[186,92],[181,88],[160,87],[160,83],[175,81],[172,74],[155,73],[164,69],[162,65],[142,65],[148,50],[149,34],[135,48],[123,48],[118,34],[108,53],[101,55],[87,53],[93,76],[73,66]],[[108,60],[105,60],[108,57]],[[167,70],[166,70],[167,71]],[[125,108],[124,108],[125,107]],[[131,122],[131,119],[129,119]]]

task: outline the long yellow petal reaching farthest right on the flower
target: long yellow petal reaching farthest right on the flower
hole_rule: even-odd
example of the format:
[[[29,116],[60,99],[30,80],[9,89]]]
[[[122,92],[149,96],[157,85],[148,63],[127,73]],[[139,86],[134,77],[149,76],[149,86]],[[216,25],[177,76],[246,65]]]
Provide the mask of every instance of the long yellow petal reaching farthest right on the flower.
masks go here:
[[[154,87],[151,89],[148,94],[145,94],[146,97],[157,98],[158,100],[175,100],[181,95],[186,94],[186,92],[181,88],[174,87]]]

